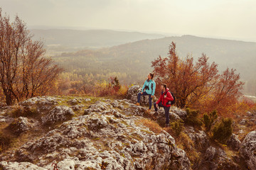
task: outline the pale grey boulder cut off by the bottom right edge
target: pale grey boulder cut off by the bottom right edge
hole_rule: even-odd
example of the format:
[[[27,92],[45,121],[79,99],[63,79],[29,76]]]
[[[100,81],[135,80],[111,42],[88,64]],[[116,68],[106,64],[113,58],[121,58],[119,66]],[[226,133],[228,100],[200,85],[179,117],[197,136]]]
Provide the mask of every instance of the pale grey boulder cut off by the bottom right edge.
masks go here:
[[[250,169],[256,169],[256,130],[249,132],[239,149],[240,155]]]

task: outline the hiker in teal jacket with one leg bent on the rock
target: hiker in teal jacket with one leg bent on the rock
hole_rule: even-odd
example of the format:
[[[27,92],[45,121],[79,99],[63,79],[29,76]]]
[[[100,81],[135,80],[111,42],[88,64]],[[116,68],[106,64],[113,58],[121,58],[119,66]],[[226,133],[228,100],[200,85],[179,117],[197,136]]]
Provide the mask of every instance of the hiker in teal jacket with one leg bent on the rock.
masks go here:
[[[148,95],[149,96],[149,110],[148,110],[148,112],[151,110],[152,98],[153,98],[155,90],[156,90],[156,83],[153,80],[153,78],[154,78],[154,73],[149,73],[148,79],[146,79],[146,81],[144,82],[144,85],[142,87],[142,92],[138,94],[138,101],[135,104],[135,105],[139,106],[140,97]],[[144,89],[146,91],[144,91]]]

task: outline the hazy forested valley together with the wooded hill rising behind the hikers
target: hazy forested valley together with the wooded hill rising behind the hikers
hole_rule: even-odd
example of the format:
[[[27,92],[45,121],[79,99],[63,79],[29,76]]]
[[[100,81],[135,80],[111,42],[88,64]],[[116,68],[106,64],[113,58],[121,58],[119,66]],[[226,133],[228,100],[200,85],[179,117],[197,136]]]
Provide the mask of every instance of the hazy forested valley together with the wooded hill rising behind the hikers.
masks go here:
[[[236,69],[240,79],[245,82],[242,92],[256,96],[255,42],[184,35],[140,40],[94,50],[63,52],[52,58],[65,69],[61,74],[67,85],[63,86],[65,93],[68,89],[74,93],[75,89],[81,89],[82,86],[106,84],[110,77],[117,77],[121,84],[129,86],[144,82],[146,75],[153,70],[151,62],[159,56],[167,57],[172,41],[176,43],[177,55],[182,59],[187,56],[198,59],[204,53],[209,57],[209,62],[218,64],[220,72],[227,68]]]

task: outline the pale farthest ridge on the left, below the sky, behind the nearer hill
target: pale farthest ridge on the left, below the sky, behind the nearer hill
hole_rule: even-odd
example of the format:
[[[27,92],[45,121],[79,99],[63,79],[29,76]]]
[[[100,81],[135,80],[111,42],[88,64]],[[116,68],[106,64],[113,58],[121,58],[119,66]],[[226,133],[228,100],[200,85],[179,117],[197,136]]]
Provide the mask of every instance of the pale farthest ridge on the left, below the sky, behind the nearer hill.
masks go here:
[[[117,30],[31,29],[35,40],[46,45],[65,47],[111,47],[138,40],[163,38],[164,35]]]

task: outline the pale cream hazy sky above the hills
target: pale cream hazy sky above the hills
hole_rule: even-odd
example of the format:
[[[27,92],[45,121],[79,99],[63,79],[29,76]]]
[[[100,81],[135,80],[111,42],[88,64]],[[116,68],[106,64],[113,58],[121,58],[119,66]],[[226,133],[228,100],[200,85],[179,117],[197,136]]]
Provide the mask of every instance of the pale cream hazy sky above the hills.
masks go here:
[[[104,28],[256,42],[256,0],[0,0],[32,26]]]

